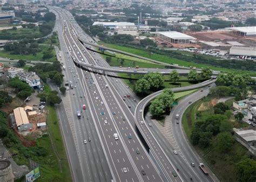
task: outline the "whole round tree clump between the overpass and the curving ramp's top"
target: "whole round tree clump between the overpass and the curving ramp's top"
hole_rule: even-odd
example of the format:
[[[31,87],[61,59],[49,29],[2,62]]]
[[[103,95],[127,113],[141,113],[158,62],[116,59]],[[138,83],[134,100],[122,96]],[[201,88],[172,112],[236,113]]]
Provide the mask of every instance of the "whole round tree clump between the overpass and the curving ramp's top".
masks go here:
[[[147,73],[143,78],[137,80],[135,84],[135,92],[139,95],[145,95],[150,91],[159,90],[164,84],[164,76],[161,73]]]

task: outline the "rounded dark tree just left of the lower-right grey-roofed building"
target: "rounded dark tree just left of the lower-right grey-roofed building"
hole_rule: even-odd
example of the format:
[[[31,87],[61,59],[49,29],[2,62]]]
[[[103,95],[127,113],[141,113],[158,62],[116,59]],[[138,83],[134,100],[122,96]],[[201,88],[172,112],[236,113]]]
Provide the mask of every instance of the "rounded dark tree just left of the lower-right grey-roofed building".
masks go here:
[[[217,149],[223,153],[231,150],[234,144],[234,138],[230,132],[223,132],[217,135]]]

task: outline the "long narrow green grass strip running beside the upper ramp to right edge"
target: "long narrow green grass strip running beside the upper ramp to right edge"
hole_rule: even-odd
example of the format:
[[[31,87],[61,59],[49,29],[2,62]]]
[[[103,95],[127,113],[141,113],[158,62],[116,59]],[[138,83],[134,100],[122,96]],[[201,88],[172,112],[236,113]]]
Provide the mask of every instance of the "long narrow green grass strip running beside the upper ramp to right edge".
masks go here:
[[[180,66],[187,66],[187,67],[188,66],[195,66],[197,68],[210,68],[212,70],[223,71],[223,72],[248,73],[252,76],[256,75],[255,72],[251,72],[251,71],[240,71],[240,70],[219,68],[219,67],[216,67],[216,66],[211,66],[211,65],[206,65],[206,64],[186,62],[185,60],[171,58],[171,57],[168,57],[168,56],[159,55],[157,53],[153,53],[153,55],[150,56],[149,52],[146,52],[144,50],[140,50],[140,49],[136,49],[136,48],[130,48],[130,47],[126,47],[126,46],[120,46],[120,45],[116,45],[116,44],[107,44],[107,43],[103,43],[103,42],[100,42],[100,44],[103,44],[104,46],[109,47],[109,48],[118,49],[118,50],[121,50],[121,51],[126,51],[126,52],[133,53],[135,55],[139,55],[139,56],[143,56],[143,57],[146,57],[146,58],[151,58],[151,59],[154,59],[154,60],[158,60],[158,61],[163,62],[163,63],[179,64]]]

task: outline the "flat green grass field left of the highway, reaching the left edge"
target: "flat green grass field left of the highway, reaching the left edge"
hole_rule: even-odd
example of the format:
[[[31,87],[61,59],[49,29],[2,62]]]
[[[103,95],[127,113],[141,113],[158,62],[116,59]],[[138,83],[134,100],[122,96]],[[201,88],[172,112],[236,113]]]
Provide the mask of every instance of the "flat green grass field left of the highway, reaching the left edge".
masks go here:
[[[11,58],[11,59],[24,59],[24,60],[41,60],[43,61],[43,52],[49,48],[49,46],[46,45],[40,45],[41,51],[37,52],[36,56],[33,55],[11,55],[8,51],[0,51],[0,57],[3,58]],[[54,49],[52,49],[53,57],[50,59],[46,59],[45,61],[53,62],[56,59],[56,52]]]

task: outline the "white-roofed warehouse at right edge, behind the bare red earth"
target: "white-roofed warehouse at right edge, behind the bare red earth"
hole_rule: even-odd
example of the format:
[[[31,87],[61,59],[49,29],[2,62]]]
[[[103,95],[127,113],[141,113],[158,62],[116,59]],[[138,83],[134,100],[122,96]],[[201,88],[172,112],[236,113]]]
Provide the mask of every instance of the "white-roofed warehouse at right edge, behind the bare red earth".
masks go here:
[[[231,33],[240,37],[256,37],[256,26],[241,26],[225,28],[231,30]]]

